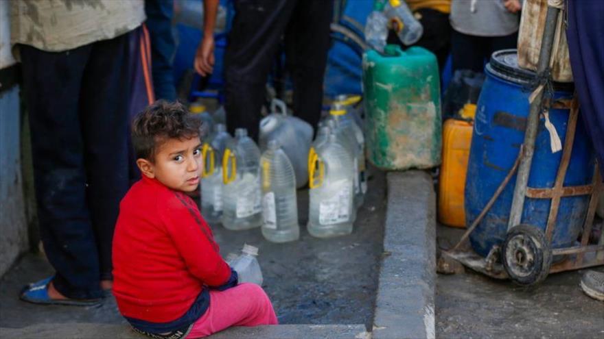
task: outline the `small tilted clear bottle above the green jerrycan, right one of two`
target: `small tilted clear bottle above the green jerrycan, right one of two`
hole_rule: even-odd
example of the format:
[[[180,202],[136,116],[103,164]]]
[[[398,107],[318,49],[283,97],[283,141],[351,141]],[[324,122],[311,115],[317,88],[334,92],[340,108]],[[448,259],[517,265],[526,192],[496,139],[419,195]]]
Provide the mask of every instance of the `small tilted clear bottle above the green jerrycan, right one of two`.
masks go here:
[[[404,45],[413,45],[421,38],[423,26],[413,16],[404,0],[388,1],[386,17]]]

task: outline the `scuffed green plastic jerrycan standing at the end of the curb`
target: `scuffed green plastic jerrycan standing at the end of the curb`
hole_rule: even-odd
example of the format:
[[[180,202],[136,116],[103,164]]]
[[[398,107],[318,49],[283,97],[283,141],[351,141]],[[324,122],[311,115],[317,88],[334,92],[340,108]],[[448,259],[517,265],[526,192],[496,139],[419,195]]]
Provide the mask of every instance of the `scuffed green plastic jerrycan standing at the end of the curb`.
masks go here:
[[[441,102],[437,58],[421,47],[363,55],[367,158],[386,170],[441,163]]]

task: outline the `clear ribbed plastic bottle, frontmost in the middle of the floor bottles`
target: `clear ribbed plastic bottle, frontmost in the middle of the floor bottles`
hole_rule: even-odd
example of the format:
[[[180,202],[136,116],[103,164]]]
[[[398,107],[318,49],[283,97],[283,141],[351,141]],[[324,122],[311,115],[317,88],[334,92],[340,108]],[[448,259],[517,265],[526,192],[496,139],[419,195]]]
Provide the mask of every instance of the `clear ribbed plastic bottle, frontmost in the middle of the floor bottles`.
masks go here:
[[[277,140],[268,142],[260,157],[262,235],[272,242],[298,240],[298,203],[294,168]]]

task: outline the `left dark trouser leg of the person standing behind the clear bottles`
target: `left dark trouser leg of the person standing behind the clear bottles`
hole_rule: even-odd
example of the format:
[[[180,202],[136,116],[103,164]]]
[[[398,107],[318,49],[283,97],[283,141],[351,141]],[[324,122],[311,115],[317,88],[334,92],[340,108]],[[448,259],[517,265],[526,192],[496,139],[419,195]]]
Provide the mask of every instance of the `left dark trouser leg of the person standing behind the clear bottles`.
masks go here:
[[[293,10],[291,0],[235,1],[235,17],[224,54],[227,128],[246,128],[257,140],[268,72]]]

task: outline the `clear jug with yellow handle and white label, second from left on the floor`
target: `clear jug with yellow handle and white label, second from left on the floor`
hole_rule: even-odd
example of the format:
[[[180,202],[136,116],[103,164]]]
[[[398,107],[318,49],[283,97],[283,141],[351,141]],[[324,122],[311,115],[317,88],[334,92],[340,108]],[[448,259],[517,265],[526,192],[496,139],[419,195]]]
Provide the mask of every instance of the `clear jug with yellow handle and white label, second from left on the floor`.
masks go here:
[[[246,129],[235,129],[235,140],[222,155],[222,225],[227,229],[262,225],[259,161],[260,151]]]

